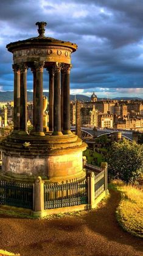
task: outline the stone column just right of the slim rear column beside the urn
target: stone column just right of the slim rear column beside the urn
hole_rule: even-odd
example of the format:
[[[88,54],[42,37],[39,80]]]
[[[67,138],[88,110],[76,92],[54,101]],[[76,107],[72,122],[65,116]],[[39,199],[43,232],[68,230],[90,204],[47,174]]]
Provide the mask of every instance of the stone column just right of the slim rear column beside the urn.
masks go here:
[[[54,66],[54,132],[52,135],[63,135],[61,132],[61,95],[60,95],[60,63]]]

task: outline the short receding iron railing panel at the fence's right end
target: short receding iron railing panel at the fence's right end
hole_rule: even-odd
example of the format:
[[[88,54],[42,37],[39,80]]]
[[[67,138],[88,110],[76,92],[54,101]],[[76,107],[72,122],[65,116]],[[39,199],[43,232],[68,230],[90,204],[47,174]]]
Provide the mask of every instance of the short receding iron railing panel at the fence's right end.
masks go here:
[[[105,190],[105,170],[95,176],[94,191],[95,199]]]

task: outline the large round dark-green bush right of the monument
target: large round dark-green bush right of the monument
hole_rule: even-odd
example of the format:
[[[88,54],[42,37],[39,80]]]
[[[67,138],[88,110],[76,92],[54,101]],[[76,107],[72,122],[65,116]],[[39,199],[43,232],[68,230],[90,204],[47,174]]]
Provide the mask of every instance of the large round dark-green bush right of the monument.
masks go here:
[[[109,179],[134,183],[143,171],[143,145],[125,139],[114,142],[106,155],[106,162]]]

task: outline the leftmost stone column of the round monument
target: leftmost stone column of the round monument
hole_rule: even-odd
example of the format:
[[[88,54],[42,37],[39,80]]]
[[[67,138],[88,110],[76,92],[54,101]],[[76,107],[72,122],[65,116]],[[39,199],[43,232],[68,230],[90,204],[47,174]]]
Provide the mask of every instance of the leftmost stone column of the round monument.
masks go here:
[[[14,71],[14,113],[13,113],[13,131],[20,129],[20,69],[18,64],[13,64]]]

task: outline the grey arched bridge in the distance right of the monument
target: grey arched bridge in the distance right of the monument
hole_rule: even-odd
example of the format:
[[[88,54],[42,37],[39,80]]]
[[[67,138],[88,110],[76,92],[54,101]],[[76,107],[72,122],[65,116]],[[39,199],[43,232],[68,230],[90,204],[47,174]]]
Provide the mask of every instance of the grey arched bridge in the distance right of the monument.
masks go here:
[[[71,126],[71,130],[75,130],[75,126]],[[122,137],[127,138],[127,140],[133,140],[133,132],[131,130],[116,130],[116,129],[96,129],[92,127],[81,127],[81,131],[85,132],[91,137],[100,137],[102,135],[110,135],[113,132],[121,132]]]

